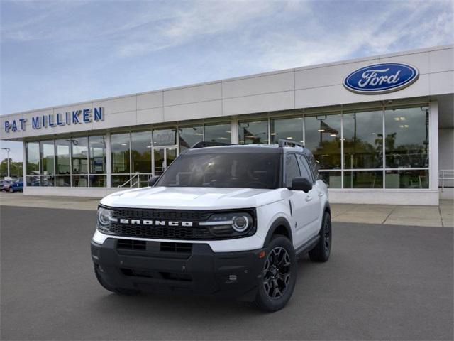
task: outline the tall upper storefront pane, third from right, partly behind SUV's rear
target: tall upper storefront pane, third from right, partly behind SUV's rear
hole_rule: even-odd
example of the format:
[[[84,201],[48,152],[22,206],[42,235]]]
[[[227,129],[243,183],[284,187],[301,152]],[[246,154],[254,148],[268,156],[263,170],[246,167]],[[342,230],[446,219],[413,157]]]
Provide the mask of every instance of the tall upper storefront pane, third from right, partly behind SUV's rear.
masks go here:
[[[320,169],[341,168],[341,114],[304,119],[304,144],[320,163]]]

